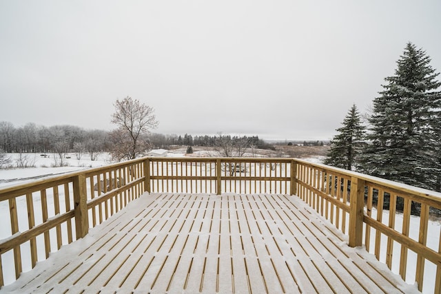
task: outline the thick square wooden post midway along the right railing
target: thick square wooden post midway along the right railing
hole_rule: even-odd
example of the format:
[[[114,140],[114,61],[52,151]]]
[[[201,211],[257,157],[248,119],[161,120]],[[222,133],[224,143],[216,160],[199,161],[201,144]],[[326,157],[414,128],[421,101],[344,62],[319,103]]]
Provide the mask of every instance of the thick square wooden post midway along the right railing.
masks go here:
[[[340,189],[340,187],[338,187]],[[351,177],[349,210],[349,246],[361,246],[363,238],[363,208],[365,207],[365,180]]]

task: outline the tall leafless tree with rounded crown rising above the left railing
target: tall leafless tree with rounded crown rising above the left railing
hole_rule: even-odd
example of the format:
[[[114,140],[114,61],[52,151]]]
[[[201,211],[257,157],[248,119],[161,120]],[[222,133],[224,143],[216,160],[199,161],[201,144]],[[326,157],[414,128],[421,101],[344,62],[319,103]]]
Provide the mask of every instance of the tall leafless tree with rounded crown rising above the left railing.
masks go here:
[[[112,134],[114,157],[134,159],[146,151],[143,149],[145,146],[141,142],[141,134],[148,133],[149,129],[154,129],[158,125],[153,113],[154,109],[129,96],[121,101],[117,99],[114,107],[112,123],[118,126]]]

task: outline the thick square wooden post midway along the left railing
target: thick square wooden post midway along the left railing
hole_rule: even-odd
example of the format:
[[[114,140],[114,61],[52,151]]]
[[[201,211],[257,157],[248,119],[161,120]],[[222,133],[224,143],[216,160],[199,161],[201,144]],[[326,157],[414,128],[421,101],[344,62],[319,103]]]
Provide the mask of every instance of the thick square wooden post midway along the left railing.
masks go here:
[[[74,177],[74,216],[76,239],[83,238],[89,231],[87,189],[85,175],[79,174]]]

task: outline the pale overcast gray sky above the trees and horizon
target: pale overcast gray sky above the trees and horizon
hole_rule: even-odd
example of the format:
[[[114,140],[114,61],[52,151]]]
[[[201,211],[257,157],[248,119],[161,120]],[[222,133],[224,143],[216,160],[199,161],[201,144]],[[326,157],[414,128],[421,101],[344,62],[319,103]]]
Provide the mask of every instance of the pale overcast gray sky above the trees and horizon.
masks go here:
[[[330,139],[408,41],[441,71],[440,15],[439,0],[0,0],[0,121],[112,129],[131,96],[158,133]]]

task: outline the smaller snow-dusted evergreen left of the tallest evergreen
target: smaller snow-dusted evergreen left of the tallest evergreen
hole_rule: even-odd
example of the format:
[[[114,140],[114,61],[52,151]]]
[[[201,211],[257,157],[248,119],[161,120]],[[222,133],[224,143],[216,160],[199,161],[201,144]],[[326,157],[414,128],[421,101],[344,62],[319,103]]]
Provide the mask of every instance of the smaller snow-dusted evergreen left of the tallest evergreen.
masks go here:
[[[339,134],[331,140],[331,149],[325,158],[325,164],[342,169],[357,169],[358,157],[364,144],[365,127],[355,104],[349,109],[342,125],[336,129]]]

